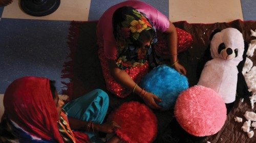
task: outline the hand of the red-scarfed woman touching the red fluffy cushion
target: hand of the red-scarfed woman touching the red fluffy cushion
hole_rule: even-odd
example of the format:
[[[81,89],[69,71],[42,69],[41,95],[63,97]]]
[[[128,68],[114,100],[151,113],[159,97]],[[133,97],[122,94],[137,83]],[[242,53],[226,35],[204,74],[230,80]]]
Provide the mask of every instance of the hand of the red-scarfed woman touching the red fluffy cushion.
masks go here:
[[[114,121],[103,124],[95,124],[95,129],[104,133],[114,133],[117,128],[121,127]]]

